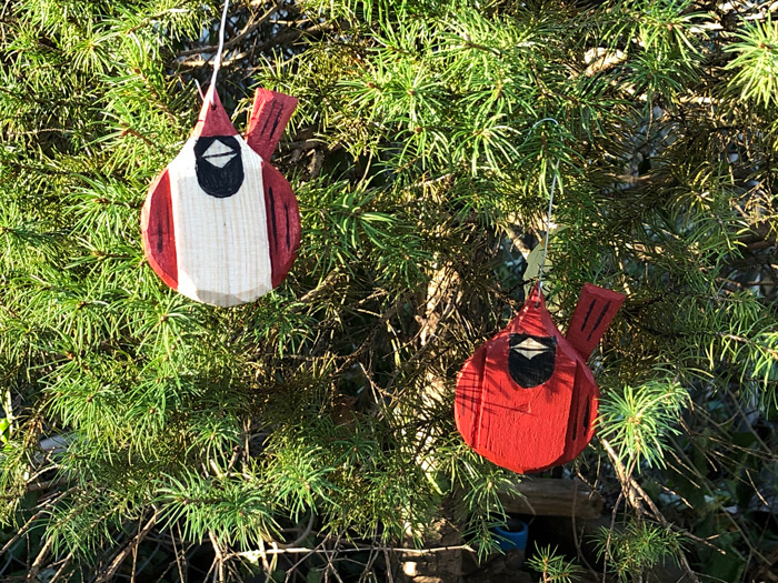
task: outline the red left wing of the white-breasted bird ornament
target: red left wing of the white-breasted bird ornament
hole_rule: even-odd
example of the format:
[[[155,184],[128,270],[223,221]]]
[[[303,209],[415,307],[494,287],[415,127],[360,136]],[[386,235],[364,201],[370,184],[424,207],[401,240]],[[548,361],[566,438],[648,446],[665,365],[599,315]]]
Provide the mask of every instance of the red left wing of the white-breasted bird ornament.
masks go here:
[[[176,232],[167,169],[149,187],[149,193],[140,213],[140,231],[143,253],[149,264],[164,283],[173,290],[178,289]]]

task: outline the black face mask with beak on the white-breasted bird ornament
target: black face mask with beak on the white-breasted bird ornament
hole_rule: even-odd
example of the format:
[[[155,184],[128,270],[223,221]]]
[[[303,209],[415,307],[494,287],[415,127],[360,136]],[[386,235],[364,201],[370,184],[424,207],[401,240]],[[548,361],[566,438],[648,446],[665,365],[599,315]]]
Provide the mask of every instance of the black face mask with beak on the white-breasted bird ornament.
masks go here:
[[[211,197],[226,199],[243,183],[243,160],[235,135],[209,135],[194,142],[194,172],[200,188]]]

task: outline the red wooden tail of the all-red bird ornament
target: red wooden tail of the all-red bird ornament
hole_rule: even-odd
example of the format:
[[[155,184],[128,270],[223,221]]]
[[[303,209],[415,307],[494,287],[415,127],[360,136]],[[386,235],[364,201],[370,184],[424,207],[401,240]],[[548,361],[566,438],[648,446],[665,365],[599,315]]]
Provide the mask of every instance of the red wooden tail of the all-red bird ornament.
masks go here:
[[[584,284],[566,336],[584,361],[591,355],[624,300],[621,293],[591,283]]]

